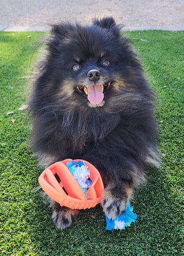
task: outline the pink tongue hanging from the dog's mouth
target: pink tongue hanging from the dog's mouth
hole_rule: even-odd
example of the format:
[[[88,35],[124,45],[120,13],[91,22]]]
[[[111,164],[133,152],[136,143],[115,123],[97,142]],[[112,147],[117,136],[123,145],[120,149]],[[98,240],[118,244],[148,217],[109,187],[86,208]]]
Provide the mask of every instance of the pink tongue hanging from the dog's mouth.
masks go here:
[[[87,87],[87,98],[93,105],[99,105],[104,98],[103,92],[101,92],[100,85],[90,85]]]

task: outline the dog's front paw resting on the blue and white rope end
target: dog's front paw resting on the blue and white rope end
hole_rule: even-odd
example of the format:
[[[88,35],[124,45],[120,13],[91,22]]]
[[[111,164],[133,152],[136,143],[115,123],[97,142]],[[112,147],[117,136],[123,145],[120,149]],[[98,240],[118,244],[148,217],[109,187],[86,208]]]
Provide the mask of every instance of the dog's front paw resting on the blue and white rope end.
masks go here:
[[[107,185],[101,201],[103,211],[107,217],[114,219],[125,211],[131,194],[132,189],[116,186],[113,183]]]

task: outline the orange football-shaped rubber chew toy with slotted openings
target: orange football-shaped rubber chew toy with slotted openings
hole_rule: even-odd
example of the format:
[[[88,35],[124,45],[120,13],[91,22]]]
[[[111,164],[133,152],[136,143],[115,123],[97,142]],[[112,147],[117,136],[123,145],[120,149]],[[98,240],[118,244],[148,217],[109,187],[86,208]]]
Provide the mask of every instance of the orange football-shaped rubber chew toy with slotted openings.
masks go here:
[[[39,177],[40,186],[52,200],[58,202],[61,206],[71,209],[95,207],[101,201],[101,195],[104,190],[99,171],[87,161],[74,160],[83,161],[88,170],[90,170],[91,185],[87,189],[86,197],[83,189],[81,189],[68,167],[66,167],[66,164],[71,161],[71,159],[66,159],[47,167]]]

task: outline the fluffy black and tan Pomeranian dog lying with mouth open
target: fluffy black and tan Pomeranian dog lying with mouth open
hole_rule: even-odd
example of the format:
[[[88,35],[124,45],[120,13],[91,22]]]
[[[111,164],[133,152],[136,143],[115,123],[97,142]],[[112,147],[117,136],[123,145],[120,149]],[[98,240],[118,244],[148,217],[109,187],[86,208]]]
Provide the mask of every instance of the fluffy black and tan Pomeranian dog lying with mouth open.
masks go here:
[[[54,25],[30,101],[39,163],[81,158],[93,164],[109,218],[125,210],[145,180],[144,167],[158,166],[153,92],[120,29],[112,17],[91,26]],[[58,229],[78,213],[54,201],[52,208]]]

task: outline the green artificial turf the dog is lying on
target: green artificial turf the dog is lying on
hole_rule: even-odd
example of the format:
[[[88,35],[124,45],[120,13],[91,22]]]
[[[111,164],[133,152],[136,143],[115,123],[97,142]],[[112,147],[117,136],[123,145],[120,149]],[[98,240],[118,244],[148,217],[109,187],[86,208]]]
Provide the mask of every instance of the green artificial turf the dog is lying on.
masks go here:
[[[82,210],[61,231],[40,191],[34,191],[40,170],[28,146],[30,120],[19,110],[28,91],[23,76],[32,70],[43,34],[0,33],[0,255],[183,255],[184,33],[126,35],[134,41],[157,94],[162,167],[148,168],[147,186],[135,193],[138,222],[131,227],[107,231],[97,205]]]

